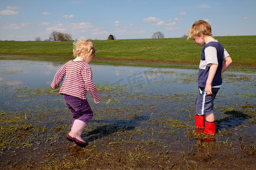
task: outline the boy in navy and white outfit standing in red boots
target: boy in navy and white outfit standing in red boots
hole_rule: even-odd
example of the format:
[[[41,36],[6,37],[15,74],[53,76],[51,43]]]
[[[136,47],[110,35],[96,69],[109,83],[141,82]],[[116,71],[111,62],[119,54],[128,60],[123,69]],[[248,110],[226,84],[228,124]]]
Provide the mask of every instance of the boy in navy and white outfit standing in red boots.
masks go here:
[[[232,59],[224,46],[212,37],[212,28],[204,20],[198,20],[192,25],[188,39],[194,40],[200,46],[205,44],[199,65],[195,126],[204,128],[204,133],[215,134],[213,101],[222,84],[221,74],[228,69]]]

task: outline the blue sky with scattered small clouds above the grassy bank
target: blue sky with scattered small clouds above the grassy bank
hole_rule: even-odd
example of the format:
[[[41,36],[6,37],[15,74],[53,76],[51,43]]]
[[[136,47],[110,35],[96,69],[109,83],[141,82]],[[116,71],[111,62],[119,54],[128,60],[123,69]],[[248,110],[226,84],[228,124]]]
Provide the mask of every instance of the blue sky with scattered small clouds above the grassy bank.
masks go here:
[[[165,38],[188,34],[199,19],[213,36],[256,35],[255,0],[1,0],[0,40],[34,41],[53,31],[106,40]]]

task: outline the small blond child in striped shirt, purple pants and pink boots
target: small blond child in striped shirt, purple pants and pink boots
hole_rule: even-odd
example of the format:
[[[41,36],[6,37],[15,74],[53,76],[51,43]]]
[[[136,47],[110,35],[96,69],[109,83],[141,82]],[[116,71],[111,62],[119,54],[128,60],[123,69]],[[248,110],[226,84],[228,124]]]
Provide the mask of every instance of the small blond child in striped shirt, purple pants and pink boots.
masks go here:
[[[73,116],[67,139],[80,147],[88,145],[82,140],[81,134],[93,117],[86,92],[88,91],[92,96],[94,103],[98,104],[101,101],[101,96],[92,82],[92,69],[88,65],[95,54],[96,49],[92,42],[82,38],[73,42],[73,56],[76,58],[65,63],[57,71],[51,83],[53,89],[59,88],[65,76],[59,93],[64,95],[65,104]]]

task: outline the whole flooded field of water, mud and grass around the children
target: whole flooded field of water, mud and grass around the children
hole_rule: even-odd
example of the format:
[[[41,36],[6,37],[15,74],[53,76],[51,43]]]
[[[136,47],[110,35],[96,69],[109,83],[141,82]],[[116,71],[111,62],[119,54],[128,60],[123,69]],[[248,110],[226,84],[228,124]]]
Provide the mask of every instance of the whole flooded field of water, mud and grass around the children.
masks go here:
[[[0,60],[0,169],[255,169],[254,67],[224,73],[209,140],[194,133],[197,66],[91,63],[102,102],[88,94],[94,117],[80,148],[49,86],[63,64]]]

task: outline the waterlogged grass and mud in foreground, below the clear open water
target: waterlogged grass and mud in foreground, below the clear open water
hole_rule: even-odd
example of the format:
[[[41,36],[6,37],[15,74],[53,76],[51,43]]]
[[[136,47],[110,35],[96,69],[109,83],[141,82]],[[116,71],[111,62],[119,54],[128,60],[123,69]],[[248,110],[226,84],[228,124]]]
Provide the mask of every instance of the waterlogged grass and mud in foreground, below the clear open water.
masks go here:
[[[189,73],[176,77],[185,84],[195,78]],[[0,87],[14,93],[6,94],[5,109],[0,110],[0,168],[253,169],[254,95],[245,95],[246,102],[234,95],[237,104],[218,96],[214,109],[223,116],[216,114],[217,133],[209,137],[195,133],[195,94],[130,91],[108,83],[96,86],[102,102],[95,105],[88,97],[94,116],[82,134],[89,143],[85,148],[65,139],[72,117],[59,90]]]

